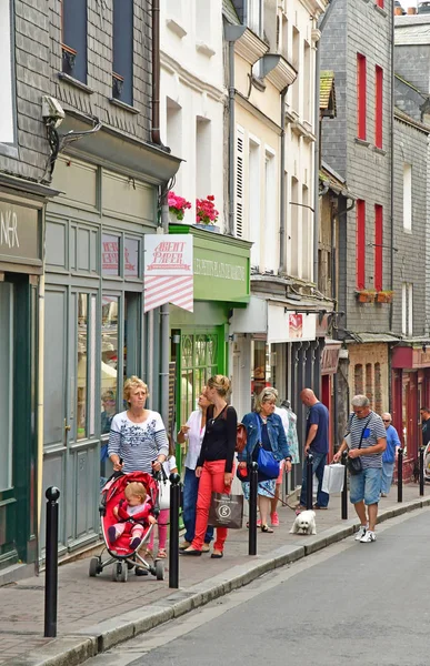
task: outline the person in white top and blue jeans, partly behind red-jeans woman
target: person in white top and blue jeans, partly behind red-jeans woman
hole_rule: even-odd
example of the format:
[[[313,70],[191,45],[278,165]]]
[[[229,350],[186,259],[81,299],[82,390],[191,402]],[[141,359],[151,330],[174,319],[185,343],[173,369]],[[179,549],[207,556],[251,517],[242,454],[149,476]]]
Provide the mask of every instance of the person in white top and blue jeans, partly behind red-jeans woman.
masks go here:
[[[196,476],[197,461],[199,460],[201,444],[203,442],[206,433],[206,422],[208,407],[211,405],[206,394],[206,386],[199,396],[198,406],[199,408],[191,412],[187,423],[181,426],[178,433],[178,442],[183,444],[188,442],[188,450],[184,461],[184,478],[183,478],[183,513],[182,519],[186,526],[186,534],[183,535],[183,542],[179,544],[179,549],[184,551],[188,548],[196,532],[196,511],[197,511],[197,497],[199,493],[200,478]],[[202,545],[202,552],[209,551],[209,544],[213,538],[213,527],[208,525],[204,535],[204,543]]]

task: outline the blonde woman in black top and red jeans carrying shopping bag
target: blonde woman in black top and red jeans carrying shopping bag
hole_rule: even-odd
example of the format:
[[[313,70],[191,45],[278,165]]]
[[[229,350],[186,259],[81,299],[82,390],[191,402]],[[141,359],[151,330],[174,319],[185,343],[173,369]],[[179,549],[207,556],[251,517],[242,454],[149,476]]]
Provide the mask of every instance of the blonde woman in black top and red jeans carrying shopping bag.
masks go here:
[[[233,477],[233,460],[238,415],[234,407],[228,406],[226,396],[230,389],[228,377],[214,375],[208,381],[207,398],[213,404],[208,407],[207,424],[196,476],[200,477],[197,497],[196,533],[191,545],[181,555],[201,555],[208,526],[212,493],[229,493]],[[217,527],[217,538],[211,557],[223,555],[227,528]]]

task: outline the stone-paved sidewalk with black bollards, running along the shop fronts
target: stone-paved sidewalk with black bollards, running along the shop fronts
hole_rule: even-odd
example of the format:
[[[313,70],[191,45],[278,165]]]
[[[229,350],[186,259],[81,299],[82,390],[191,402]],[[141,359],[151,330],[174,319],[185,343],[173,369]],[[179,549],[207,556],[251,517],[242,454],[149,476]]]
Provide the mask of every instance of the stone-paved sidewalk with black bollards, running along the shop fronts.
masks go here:
[[[427,491],[428,492],[428,491]],[[411,484],[403,488],[403,509],[420,508],[430,503],[429,500],[419,497],[419,488]],[[388,498],[381,500],[380,513],[391,517],[392,509],[397,509],[397,488],[393,487]],[[179,581],[180,589],[188,591],[197,584],[210,582],[216,577],[228,581],[229,571],[238,565],[246,565],[258,562],[268,562],[270,557],[276,556],[276,552],[284,546],[309,545],[310,539],[316,537],[298,536],[289,534],[289,529],[294,519],[294,513],[280,507],[280,526],[274,529],[274,534],[263,534],[258,532],[258,556],[248,556],[248,531],[230,531],[226,543],[226,553],[222,559],[211,559],[208,555],[196,558],[180,557]],[[340,497],[331,497],[328,511],[317,512],[318,535],[339,533],[348,526],[357,524],[353,507],[349,505],[349,519],[342,521],[340,513]],[[338,534],[337,538],[344,536]],[[317,547],[328,545],[329,538],[317,539]],[[331,542],[330,542],[331,543]],[[308,548],[309,551],[309,548]],[[304,548],[302,549],[302,556]],[[174,591],[169,589],[169,575],[166,571],[166,581],[156,581],[152,576],[136,577],[131,573],[128,582],[113,583],[111,579],[111,567],[108,567],[97,578],[90,578],[88,575],[89,559],[80,559],[69,563],[59,569],[59,598],[58,598],[58,637],[66,638],[77,636],[82,637],[90,628],[104,623],[107,626],[114,626],[114,622],[124,617],[124,614],[136,612],[136,609],[152,605],[158,607],[160,602],[172,595]],[[168,569],[168,561],[166,561]],[[256,574],[257,575],[257,574]],[[256,577],[256,575],[253,577]],[[243,583],[242,583],[243,584]],[[11,583],[0,588],[0,634],[1,650],[0,665],[20,666],[21,664],[72,664],[71,660],[59,662],[41,660],[37,654],[47,654],[50,650],[52,639],[43,638],[43,599],[44,599],[44,575],[33,576],[17,583]],[[163,602],[164,605],[167,602]],[[148,609],[149,610],[149,609]],[[148,615],[142,610],[143,615]],[[139,612],[138,612],[139,614]],[[71,638],[70,638],[71,642]],[[38,650],[37,648],[43,648]],[[36,650],[36,652],[34,652]],[[82,663],[78,659],[73,664]]]

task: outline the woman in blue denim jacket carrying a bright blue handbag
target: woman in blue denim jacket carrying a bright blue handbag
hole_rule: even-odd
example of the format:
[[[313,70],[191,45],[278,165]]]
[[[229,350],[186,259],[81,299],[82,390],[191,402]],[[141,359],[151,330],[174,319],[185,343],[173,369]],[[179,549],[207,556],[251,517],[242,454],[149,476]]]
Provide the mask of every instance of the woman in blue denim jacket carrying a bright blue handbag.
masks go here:
[[[291,455],[288,447],[282,421],[274,414],[278,391],[263,389],[256,398],[256,412],[246,414],[242,423],[247,428],[247,446],[238,455],[239,470],[244,470],[252,461],[257,462],[260,446],[273,454],[274,460],[286,461],[287,472],[291,471]],[[240,472],[239,472],[240,474]],[[260,509],[261,532],[272,533],[268,525],[270,502],[274,497],[276,478],[267,478],[259,472],[258,505]],[[249,481],[242,482],[243,495],[249,500]]]

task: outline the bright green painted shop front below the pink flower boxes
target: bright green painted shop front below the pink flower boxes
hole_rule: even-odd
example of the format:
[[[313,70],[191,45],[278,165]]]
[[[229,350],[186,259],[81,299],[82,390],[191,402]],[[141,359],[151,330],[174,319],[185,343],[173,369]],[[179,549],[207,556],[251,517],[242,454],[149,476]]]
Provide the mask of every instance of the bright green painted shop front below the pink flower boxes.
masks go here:
[[[229,375],[229,319],[250,296],[250,243],[184,224],[170,233],[193,236],[194,307],[170,309],[176,364],[176,424],[184,423],[213,374]],[[181,456],[183,451],[177,453]]]

